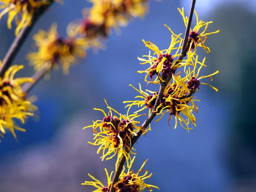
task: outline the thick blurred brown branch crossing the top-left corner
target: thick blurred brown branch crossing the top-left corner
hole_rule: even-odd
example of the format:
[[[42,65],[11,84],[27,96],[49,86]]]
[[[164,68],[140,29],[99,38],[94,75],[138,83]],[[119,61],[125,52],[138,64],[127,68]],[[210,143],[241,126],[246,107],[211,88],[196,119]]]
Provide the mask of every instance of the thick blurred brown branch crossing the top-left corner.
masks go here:
[[[11,47],[9,48],[8,52],[6,53],[5,57],[3,58],[2,65],[0,67],[0,77],[3,77],[4,73],[8,69],[8,67],[12,64],[12,61],[17,56],[17,53],[19,52],[20,48],[26,41],[26,38],[28,37],[29,33],[31,32],[33,26],[35,26],[35,23],[37,20],[43,15],[45,10],[49,8],[49,6],[52,5],[54,1],[51,0],[50,3],[46,6],[43,6],[38,9],[38,12],[35,12],[31,21],[31,25],[24,27],[20,30],[19,34],[15,38],[15,40],[12,42]]]

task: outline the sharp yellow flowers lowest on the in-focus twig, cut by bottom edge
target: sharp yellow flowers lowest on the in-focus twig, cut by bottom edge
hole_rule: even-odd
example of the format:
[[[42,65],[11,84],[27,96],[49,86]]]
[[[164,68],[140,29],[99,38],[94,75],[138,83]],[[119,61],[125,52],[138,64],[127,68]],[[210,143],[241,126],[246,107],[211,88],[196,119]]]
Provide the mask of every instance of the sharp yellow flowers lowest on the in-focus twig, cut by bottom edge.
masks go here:
[[[131,166],[134,162],[135,157],[131,160],[131,164],[128,167],[127,173],[125,173],[125,166],[123,167],[123,170],[119,176],[119,180],[115,183],[115,192],[142,192],[144,189],[148,189],[149,191],[153,191],[152,187],[159,189],[159,187],[146,184],[145,179],[150,178],[152,176],[152,173],[148,175],[148,171],[143,170],[143,167],[145,166],[145,163],[147,160],[144,161],[143,165],[140,167],[139,171],[134,173],[133,170],[131,170]],[[108,174],[107,169],[105,169],[107,178],[108,178],[108,186],[104,186],[99,180],[97,180],[92,175],[88,174],[94,181],[84,181],[82,185],[91,185],[95,186],[97,189],[93,192],[109,192],[110,186],[111,186],[111,177],[113,175],[113,172],[111,174]],[[140,175],[143,173],[143,175]]]

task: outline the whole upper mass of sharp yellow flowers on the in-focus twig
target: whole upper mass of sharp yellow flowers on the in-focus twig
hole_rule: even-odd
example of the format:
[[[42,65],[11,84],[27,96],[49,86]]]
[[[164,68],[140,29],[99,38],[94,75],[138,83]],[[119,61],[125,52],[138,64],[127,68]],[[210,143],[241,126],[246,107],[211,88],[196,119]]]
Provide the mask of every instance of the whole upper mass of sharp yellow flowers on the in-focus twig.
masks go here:
[[[187,25],[188,18],[184,16],[183,9],[182,11],[180,9],[178,10],[183,16],[185,25]],[[193,112],[198,112],[198,107],[195,105],[195,101],[199,100],[195,98],[194,94],[200,89],[200,84],[207,84],[201,82],[201,79],[209,77],[212,80],[211,76],[218,73],[218,71],[216,71],[208,76],[199,77],[201,68],[206,67],[206,65],[204,64],[205,58],[202,62],[198,61],[196,47],[202,47],[206,52],[209,52],[209,47],[204,45],[205,40],[201,41],[201,37],[217,33],[219,30],[216,32],[205,33],[208,24],[212,22],[205,23],[202,20],[198,21],[198,15],[196,12],[195,15],[197,23],[194,29],[190,30],[189,41],[186,46],[186,51],[188,54],[187,58],[183,61],[178,60],[178,52],[181,49],[181,44],[183,43],[183,39],[180,38],[181,34],[175,35],[175,33],[168,26],[165,25],[172,33],[172,41],[168,49],[160,50],[151,42],[143,40],[145,46],[151,49],[153,54],[151,55],[151,52],[149,51],[148,55],[143,55],[143,57],[146,57],[146,59],[138,58],[140,61],[143,61],[141,64],[150,64],[148,69],[138,71],[138,73],[146,73],[145,81],[147,83],[161,84],[162,82],[166,81],[167,77],[172,78],[172,81],[167,84],[163,95],[160,96],[160,104],[155,106],[159,93],[150,90],[146,90],[145,92],[142,90],[141,85],[140,89],[137,89],[132,85],[131,86],[141,94],[141,96],[137,96],[136,98],[141,98],[142,100],[124,102],[128,103],[126,107],[131,107],[133,105],[141,107],[141,109],[136,111],[136,113],[148,108],[148,113],[154,111],[157,115],[161,114],[160,118],[156,121],[160,120],[164,114],[169,113],[169,120],[172,119],[172,116],[175,116],[174,128],[177,128],[177,123],[180,122],[180,125],[188,131],[192,129],[189,125],[191,122],[194,126],[196,126],[196,119]],[[198,31],[202,26],[205,26],[205,29],[200,35],[198,35]],[[171,54],[172,50],[175,51],[174,54]],[[177,72],[177,70],[181,69],[181,67],[183,67],[183,70]],[[157,75],[155,79],[153,79],[154,75]],[[148,81],[148,76],[150,77],[151,81]],[[212,87],[211,85],[209,86]],[[218,91],[215,87],[212,88]]]

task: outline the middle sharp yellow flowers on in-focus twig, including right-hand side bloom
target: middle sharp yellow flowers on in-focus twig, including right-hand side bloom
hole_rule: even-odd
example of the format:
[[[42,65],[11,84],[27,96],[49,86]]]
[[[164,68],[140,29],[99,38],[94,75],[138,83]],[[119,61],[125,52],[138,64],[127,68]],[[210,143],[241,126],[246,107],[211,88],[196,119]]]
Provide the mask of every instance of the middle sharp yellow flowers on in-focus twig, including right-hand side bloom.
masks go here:
[[[194,94],[200,89],[200,84],[207,84],[201,82],[201,79],[204,78],[211,78],[213,75],[219,73],[216,71],[208,76],[199,76],[199,72],[201,67],[205,66],[204,61],[202,62],[197,61],[198,56],[196,57],[194,68],[190,71],[186,70],[186,76],[181,78],[180,75],[173,75],[172,82],[168,84],[166,89],[164,90],[163,96],[160,98],[160,105],[156,108],[156,113],[161,114],[160,118],[156,121],[160,120],[166,113],[169,112],[169,120],[172,119],[172,116],[175,116],[175,127],[177,128],[177,122],[180,122],[180,125],[187,129],[188,131],[192,128],[189,128],[189,123],[192,122],[194,126],[195,124],[195,116],[193,111],[196,113],[198,112],[198,107],[195,105],[195,101],[200,101],[195,99]],[[197,68],[197,64],[200,64],[197,72],[195,71]],[[140,85],[140,84],[139,84]],[[207,84],[212,87],[210,84]],[[135,100],[135,101],[125,101],[124,103],[130,103],[126,105],[126,107],[131,107],[135,105],[137,107],[143,107],[140,110],[136,111],[136,113],[145,110],[146,108],[149,109],[148,113],[154,110],[154,105],[156,103],[157,92],[153,92],[150,90],[146,90],[147,92],[143,91],[140,85],[140,89],[135,88],[134,86],[130,85],[135,90],[137,90],[142,96],[137,96],[136,98],[142,98],[143,100]],[[212,87],[214,90],[218,91],[215,87]],[[149,94],[151,93],[151,94]],[[169,122],[169,121],[168,121]]]

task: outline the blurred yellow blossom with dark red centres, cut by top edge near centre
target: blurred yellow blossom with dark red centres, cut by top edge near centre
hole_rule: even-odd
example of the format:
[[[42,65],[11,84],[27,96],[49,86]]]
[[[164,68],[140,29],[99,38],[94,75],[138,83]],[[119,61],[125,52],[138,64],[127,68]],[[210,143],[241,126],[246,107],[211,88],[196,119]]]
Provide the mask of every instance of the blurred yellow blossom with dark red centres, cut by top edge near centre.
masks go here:
[[[143,17],[148,0],[90,0],[91,9],[84,10],[84,19],[76,25],[78,32],[87,38],[107,37],[111,28],[126,26],[130,17]]]

